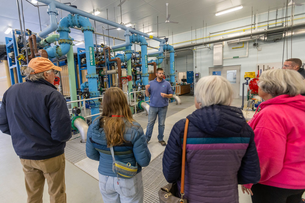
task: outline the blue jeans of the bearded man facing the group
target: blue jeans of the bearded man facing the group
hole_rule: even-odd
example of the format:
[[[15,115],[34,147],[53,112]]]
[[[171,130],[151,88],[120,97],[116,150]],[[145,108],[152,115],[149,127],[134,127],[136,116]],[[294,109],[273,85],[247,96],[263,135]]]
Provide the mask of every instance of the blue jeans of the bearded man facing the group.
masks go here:
[[[149,107],[148,124],[147,124],[147,128],[146,128],[146,133],[145,133],[147,142],[149,142],[149,140],[152,137],[152,130],[153,130],[155,121],[157,119],[157,115],[158,115],[158,131],[159,131],[158,140],[159,141],[163,140],[166,112],[167,112],[167,106],[166,107]]]

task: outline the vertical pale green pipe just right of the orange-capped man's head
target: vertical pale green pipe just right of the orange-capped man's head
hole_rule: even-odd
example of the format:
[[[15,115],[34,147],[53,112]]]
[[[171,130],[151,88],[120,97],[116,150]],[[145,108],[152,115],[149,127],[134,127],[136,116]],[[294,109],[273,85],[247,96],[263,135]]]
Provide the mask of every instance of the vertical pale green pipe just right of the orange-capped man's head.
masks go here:
[[[74,54],[73,54],[73,46],[70,46],[70,50],[67,53],[67,61],[68,61],[68,72],[69,72],[69,85],[70,85],[70,97],[71,101],[77,100],[76,93],[76,81],[75,81],[75,68],[74,68]],[[77,107],[77,102],[71,103],[71,107]]]

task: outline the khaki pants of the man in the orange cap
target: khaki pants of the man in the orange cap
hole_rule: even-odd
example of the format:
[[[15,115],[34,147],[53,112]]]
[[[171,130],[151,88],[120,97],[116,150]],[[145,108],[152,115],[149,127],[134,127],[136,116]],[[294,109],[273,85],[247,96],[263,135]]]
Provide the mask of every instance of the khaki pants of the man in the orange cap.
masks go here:
[[[50,203],[66,203],[65,154],[44,160],[20,159],[25,177],[27,203],[41,203],[48,183]]]

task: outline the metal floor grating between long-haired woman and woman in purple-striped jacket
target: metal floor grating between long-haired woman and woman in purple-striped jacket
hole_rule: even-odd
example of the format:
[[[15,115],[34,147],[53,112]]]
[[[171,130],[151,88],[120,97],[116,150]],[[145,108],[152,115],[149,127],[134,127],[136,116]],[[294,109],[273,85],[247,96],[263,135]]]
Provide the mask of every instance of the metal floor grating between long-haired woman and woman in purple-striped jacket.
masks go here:
[[[167,184],[162,172],[163,152],[142,169],[144,203],[158,203],[158,191]]]

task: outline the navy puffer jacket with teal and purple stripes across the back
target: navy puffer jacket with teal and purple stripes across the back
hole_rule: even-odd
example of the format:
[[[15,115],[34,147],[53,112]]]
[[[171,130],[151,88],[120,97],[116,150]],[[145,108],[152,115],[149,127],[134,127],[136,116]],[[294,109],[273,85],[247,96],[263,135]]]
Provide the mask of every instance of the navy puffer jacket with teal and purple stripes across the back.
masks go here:
[[[260,180],[254,133],[242,111],[213,105],[187,118],[185,198],[190,203],[239,202],[237,185]],[[170,183],[178,181],[179,191],[185,120],[174,125],[163,156],[163,174]]]

